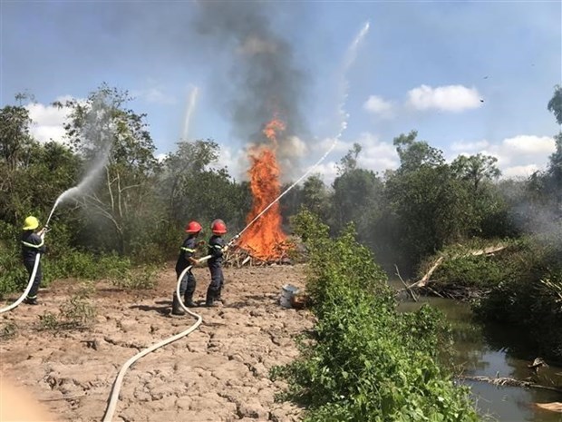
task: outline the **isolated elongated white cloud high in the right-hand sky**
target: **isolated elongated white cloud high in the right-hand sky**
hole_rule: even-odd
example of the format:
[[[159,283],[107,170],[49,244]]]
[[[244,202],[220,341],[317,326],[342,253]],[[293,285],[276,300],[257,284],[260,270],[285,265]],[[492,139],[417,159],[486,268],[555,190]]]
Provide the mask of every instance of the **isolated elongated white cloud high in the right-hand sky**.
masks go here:
[[[480,93],[476,88],[446,85],[432,88],[422,85],[408,92],[407,105],[416,110],[441,110],[459,113],[480,107]]]

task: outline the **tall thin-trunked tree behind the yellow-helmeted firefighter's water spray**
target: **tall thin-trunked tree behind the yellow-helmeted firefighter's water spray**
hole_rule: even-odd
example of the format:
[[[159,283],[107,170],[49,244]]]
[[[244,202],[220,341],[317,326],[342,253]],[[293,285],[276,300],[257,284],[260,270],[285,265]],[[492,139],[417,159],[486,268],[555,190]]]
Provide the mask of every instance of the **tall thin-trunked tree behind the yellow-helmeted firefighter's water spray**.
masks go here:
[[[153,191],[160,163],[146,115],[125,108],[130,100],[127,92],[102,84],[85,102],[65,103],[72,109],[66,134],[76,151],[86,162],[106,160],[103,182],[77,201],[91,217],[92,237],[121,254],[138,244],[160,216]],[[95,230],[100,221],[111,227],[112,236]]]

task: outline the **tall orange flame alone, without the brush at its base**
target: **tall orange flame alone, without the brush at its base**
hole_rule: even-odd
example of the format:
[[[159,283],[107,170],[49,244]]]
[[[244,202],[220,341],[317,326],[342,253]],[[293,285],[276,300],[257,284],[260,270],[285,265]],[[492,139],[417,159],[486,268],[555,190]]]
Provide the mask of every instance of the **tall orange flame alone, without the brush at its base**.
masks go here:
[[[276,160],[276,136],[285,128],[285,123],[276,118],[272,119],[266,124],[263,133],[273,144],[273,148],[262,145],[250,151],[252,166],[248,173],[254,201],[252,211],[247,215],[247,223],[275,201],[281,192],[279,165]],[[252,256],[262,260],[280,258],[286,240],[286,234],[281,230],[281,222],[279,202],[276,202],[244,232],[239,245],[249,250]]]

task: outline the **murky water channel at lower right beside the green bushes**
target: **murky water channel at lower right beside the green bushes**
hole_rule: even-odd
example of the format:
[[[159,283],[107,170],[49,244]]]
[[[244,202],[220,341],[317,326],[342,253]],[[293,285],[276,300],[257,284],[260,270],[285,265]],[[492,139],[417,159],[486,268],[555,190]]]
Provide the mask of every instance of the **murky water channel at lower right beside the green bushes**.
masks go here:
[[[455,339],[456,365],[467,376],[509,377],[529,380],[545,386],[562,387],[562,368],[552,364],[535,374],[528,368],[536,352],[528,348],[525,333],[505,327],[486,328],[472,320],[470,306],[451,299],[420,298],[405,302],[404,311],[419,308],[421,303],[441,309],[451,322]],[[562,414],[539,409],[535,403],[562,402],[562,394],[513,387],[495,387],[485,382],[465,382],[470,386],[480,415],[509,422],[560,422]]]

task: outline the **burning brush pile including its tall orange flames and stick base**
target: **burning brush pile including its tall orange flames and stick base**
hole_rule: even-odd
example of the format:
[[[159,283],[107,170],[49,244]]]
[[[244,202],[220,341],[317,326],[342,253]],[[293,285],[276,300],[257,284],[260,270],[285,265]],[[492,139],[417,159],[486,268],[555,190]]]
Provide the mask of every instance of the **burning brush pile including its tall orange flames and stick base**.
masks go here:
[[[288,253],[293,246],[281,228],[279,202],[273,203],[281,194],[276,146],[277,136],[283,131],[285,123],[274,118],[263,130],[269,145],[254,146],[249,150],[251,167],[248,174],[253,204],[246,221],[251,225],[242,233],[237,246],[228,252],[226,263],[230,265],[291,263]]]

